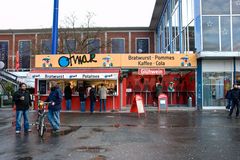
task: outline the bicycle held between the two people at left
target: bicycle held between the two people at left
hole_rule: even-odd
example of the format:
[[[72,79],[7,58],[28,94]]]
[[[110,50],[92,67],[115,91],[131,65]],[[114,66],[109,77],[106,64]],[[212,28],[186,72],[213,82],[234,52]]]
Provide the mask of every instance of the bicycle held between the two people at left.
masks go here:
[[[38,117],[36,120],[36,126],[37,126],[37,131],[38,131],[38,135],[40,137],[43,137],[45,131],[47,130],[46,128],[46,123],[45,123],[45,117],[46,117],[46,106],[49,104],[50,102],[43,102],[40,101],[38,103]]]

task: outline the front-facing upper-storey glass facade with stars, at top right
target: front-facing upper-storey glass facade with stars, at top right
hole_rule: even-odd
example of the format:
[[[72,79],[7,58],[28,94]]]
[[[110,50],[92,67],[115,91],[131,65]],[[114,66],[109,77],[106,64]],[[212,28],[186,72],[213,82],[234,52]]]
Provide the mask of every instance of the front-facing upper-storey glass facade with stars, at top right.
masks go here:
[[[240,0],[201,0],[201,5],[202,50],[239,52]]]

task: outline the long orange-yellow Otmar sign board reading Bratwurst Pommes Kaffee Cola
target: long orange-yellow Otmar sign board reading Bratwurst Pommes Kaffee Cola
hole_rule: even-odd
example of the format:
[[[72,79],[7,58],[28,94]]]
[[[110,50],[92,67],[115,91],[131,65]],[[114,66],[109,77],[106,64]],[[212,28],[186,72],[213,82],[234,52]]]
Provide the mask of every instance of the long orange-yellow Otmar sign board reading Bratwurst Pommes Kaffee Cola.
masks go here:
[[[36,68],[196,68],[195,54],[36,55]]]

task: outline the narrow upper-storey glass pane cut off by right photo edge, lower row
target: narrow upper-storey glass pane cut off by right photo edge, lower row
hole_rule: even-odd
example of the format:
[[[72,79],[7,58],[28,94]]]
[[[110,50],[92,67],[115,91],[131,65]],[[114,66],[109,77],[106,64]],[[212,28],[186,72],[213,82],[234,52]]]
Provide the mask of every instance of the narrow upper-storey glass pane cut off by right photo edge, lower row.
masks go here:
[[[240,51],[240,17],[233,16],[233,51]]]

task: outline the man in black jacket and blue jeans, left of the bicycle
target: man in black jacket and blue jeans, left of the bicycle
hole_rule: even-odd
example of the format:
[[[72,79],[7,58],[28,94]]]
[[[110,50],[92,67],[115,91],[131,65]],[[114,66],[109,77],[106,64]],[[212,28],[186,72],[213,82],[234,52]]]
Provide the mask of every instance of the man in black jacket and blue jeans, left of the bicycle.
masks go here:
[[[29,127],[29,107],[32,106],[30,93],[26,90],[27,85],[21,83],[19,90],[13,95],[13,101],[16,105],[16,134],[21,133],[21,120],[24,119],[24,132],[31,132]]]

